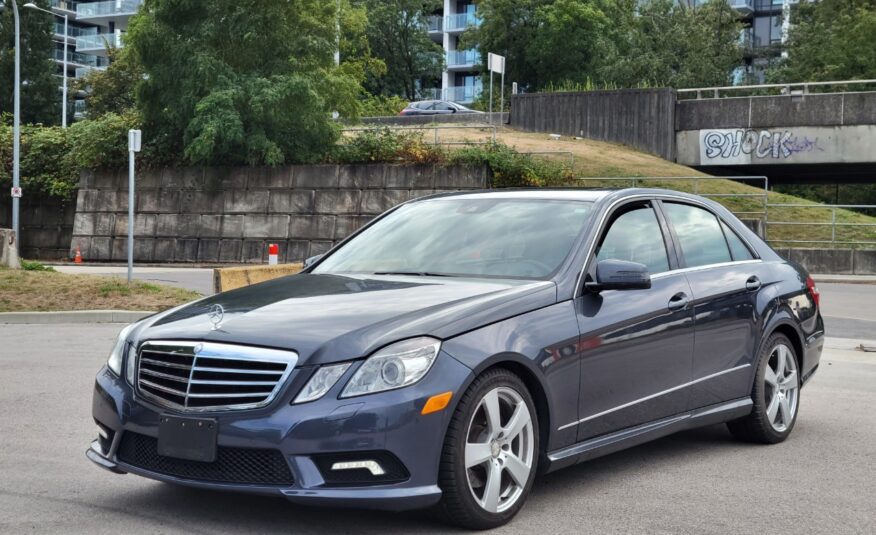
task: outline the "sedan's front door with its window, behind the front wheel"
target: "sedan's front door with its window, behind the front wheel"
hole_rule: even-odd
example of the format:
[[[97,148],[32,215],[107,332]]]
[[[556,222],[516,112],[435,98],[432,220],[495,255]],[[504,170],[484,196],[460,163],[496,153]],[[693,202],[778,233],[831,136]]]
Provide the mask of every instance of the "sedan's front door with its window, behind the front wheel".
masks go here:
[[[648,266],[647,290],[584,290],[575,300],[581,353],[578,440],[687,410],[693,356],[691,289],[677,267],[652,201],[608,219],[588,263],[617,259]]]

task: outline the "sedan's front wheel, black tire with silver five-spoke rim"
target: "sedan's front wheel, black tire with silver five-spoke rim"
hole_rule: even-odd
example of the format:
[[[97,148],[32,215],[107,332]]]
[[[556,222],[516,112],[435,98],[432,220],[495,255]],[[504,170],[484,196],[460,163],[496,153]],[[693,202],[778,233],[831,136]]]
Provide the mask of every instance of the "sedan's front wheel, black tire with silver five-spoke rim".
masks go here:
[[[491,425],[491,414],[499,415],[498,430]],[[510,521],[532,489],[538,429],[535,403],[517,375],[497,368],[477,377],[460,399],[444,439],[438,474],[442,496],[435,511],[439,518],[467,529],[491,529]]]

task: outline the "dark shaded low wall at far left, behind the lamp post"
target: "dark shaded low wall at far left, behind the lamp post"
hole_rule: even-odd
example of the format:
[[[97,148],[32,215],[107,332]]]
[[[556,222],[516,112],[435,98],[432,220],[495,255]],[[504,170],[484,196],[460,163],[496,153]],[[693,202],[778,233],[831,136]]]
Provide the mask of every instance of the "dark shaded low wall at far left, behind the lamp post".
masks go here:
[[[76,203],[57,197],[27,195],[21,199],[18,253],[22,258],[60,260],[67,256]],[[12,227],[12,202],[0,203],[0,227]]]

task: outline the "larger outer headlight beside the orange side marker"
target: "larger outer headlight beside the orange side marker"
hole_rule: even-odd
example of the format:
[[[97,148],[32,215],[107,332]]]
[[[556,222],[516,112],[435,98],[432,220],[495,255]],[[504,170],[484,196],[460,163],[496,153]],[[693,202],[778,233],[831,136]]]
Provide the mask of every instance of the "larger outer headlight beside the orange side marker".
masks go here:
[[[356,370],[342,398],[393,390],[416,383],[435,362],[441,341],[422,337],[403,340],[374,353]]]

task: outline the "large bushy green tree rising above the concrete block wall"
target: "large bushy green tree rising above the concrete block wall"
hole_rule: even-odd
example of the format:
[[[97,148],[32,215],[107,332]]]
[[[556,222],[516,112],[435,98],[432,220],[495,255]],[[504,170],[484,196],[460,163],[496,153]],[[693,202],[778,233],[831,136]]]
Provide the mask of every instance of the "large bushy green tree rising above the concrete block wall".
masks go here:
[[[337,22],[336,0],[146,0],[125,40],[144,135],[193,164],[323,158],[360,91],[334,64]]]

